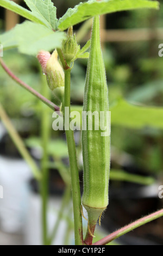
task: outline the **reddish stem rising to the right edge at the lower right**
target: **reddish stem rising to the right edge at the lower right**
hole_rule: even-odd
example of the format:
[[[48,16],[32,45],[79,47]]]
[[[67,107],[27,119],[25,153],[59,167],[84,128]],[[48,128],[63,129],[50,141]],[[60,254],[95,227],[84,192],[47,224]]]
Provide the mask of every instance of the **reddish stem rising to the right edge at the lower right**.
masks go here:
[[[118,237],[130,232],[131,230],[134,230],[135,228],[140,227],[141,225],[144,225],[150,221],[155,220],[156,218],[159,218],[163,216],[163,209],[154,212],[151,215],[145,216],[143,218],[140,218],[139,220],[127,225],[126,227],[123,227],[114,233],[111,233],[110,235],[104,237],[103,239],[99,240],[98,242],[93,243],[93,245],[106,245],[107,243],[117,239]]]

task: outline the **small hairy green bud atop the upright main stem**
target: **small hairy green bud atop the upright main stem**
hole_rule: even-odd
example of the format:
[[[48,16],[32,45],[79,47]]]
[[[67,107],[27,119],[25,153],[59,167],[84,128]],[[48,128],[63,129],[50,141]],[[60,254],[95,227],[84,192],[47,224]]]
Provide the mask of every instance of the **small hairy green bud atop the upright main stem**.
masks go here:
[[[64,53],[66,62],[71,63],[75,59],[79,49],[80,46],[77,44],[76,35],[73,34],[73,27],[70,27],[67,31],[67,39],[62,45],[62,52]]]

